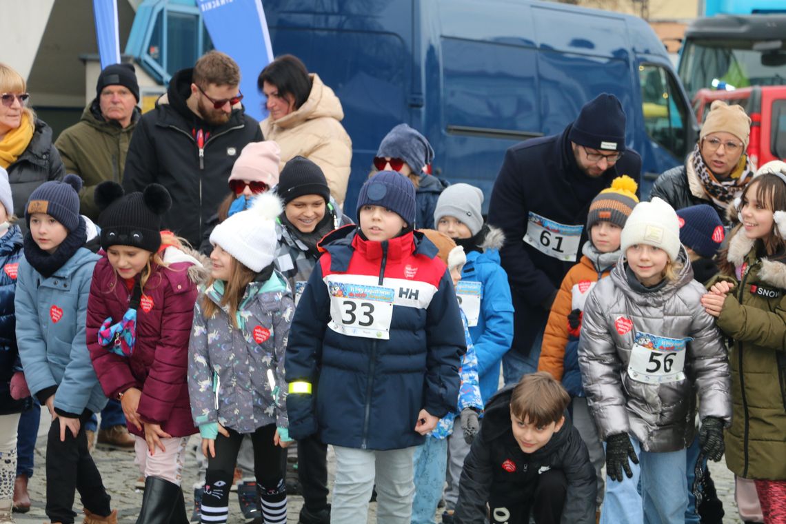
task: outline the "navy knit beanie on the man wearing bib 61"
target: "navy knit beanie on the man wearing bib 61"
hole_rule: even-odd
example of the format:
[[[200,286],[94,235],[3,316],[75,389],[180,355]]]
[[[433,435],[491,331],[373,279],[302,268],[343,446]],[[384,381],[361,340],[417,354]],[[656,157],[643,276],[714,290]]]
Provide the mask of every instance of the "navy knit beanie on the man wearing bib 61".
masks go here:
[[[567,138],[587,148],[625,151],[623,104],[613,94],[599,94],[584,104]]]

